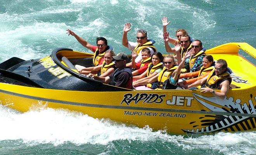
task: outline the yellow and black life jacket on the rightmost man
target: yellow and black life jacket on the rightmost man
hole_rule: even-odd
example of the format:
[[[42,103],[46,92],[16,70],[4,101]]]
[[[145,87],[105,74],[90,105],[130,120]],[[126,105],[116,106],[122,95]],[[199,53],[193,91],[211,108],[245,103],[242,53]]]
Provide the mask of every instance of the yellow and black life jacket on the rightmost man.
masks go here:
[[[225,81],[225,79],[228,79],[229,84],[231,84],[232,78],[230,77],[229,72],[223,72],[220,75],[216,75],[215,69],[213,69],[207,78],[205,86],[212,89],[218,89],[220,88],[221,82]]]

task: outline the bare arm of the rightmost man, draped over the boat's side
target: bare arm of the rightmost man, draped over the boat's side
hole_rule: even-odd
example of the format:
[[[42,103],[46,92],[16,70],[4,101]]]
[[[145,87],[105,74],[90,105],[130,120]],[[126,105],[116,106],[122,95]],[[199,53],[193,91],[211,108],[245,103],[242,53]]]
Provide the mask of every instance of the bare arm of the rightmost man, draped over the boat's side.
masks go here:
[[[211,89],[211,88],[201,88],[200,90],[202,90],[201,93],[212,93],[213,92],[213,89]],[[214,91],[213,95],[224,100],[228,93],[228,90],[229,90],[229,81],[225,80],[220,84],[220,92]]]

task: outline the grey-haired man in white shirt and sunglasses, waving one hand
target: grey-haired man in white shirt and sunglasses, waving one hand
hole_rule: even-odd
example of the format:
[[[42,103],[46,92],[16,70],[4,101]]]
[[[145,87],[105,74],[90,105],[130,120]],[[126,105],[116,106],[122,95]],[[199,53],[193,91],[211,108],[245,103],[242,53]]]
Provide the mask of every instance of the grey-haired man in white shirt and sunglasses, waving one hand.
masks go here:
[[[130,22],[125,24],[123,29],[122,43],[125,47],[129,48],[129,50],[133,50],[133,52],[137,53],[137,58],[135,59],[135,63],[139,63],[142,60],[141,50],[143,48],[149,48],[151,55],[156,52],[156,48],[154,47],[154,43],[156,41],[147,39],[147,31],[144,29],[139,29],[137,31],[137,42],[131,42],[127,39],[127,33],[131,30]],[[129,63],[127,66],[131,66]]]

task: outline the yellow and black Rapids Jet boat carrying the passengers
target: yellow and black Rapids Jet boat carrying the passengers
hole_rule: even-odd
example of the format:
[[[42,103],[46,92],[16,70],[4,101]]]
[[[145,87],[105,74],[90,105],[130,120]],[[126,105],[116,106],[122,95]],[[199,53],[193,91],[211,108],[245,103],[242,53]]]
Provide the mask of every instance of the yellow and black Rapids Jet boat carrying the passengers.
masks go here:
[[[200,90],[129,90],[103,84],[74,68],[74,64],[90,66],[93,54],[57,48],[42,59],[13,57],[1,63],[0,101],[21,112],[41,102],[49,108],[176,134],[256,130],[256,66],[239,55],[240,48],[256,58],[256,49],[247,43],[206,51],[215,60],[227,60],[233,71],[224,100]]]

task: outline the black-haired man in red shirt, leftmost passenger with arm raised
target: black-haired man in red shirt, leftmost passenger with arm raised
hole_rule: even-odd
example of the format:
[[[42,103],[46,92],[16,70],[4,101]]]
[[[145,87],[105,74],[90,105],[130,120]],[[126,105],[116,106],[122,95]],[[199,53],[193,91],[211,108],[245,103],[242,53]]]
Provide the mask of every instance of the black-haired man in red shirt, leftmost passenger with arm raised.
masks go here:
[[[113,48],[111,46],[107,45],[106,38],[97,37],[97,39],[96,39],[97,46],[93,46],[90,43],[88,43],[86,40],[84,40],[83,38],[81,38],[80,36],[75,34],[70,29],[67,29],[66,31],[67,31],[68,35],[71,34],[71,36],[74,36],[79,43],[81,43],[84,47],[88,48],[89,50],[91,50],[94,53],[92,66],[101,65],[102,62],[104,61],[105,52],[107,50],[113,50]],[[78,70],[81,68],[84,68],[83,66],[80,66],[80,65],[76,65],[75,67]]]

